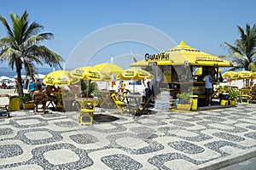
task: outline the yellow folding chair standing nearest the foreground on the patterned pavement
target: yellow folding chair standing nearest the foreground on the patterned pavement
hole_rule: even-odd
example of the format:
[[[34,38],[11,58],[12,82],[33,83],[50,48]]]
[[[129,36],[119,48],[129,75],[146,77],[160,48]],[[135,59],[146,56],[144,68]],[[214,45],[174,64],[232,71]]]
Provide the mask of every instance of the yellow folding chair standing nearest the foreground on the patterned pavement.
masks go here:
[[[80,116],[79,116],[79,123],[83,124],[92,124],[94,111],[96,108],[97,101],[93,99],[76,99],[76,101],[80,104]],[[89,116],[90,120],[86,120],[85,116]]]

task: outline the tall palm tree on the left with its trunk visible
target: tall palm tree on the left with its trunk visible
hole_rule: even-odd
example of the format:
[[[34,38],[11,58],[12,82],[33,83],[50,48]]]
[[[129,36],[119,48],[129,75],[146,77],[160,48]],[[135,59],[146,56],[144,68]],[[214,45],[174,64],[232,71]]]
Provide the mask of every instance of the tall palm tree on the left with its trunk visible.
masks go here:
[[[55,67],[63,60],[49,48],[39,45],[40,42],[53,38],[52,33],[40,33],[44,29],[37,22],[29,25],[28,13],[21,16],[10,14],[12,28],[7,20],[0,15],[0,21],[7,31],[7,37],[0,38],[0,61],[7,61],[8,65],[16,69],[18,79],[18,92],[20,99],[23,96],[21,86],[21,70],[25,68],[26,75],[33,77],[35,64],[44,63]]]

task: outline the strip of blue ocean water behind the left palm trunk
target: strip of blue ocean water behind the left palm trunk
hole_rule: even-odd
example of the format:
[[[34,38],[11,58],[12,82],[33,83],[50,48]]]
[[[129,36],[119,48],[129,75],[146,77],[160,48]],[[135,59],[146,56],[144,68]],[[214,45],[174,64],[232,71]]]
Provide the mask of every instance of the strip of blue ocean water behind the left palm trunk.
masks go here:
[[[38,68],[36,71],[36,74],[48,74],[49,72],[53,71],[52,68]],[[22,75],[25,75],[25,71],[21,71]],[[16,74],[16,69],[12,70],[10,67],[0,67],[0,77],[6,76],[6,77],[15,77]]]

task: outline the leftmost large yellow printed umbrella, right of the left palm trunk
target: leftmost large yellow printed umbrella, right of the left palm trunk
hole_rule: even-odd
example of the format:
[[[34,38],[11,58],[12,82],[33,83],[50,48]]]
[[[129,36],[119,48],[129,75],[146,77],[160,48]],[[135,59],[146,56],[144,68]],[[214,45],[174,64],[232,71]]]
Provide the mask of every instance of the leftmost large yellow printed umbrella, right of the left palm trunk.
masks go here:
[[[45,85],[69,85],[79,82],[79,79],[70,76],[69,71],[52,71],[43,78]]]

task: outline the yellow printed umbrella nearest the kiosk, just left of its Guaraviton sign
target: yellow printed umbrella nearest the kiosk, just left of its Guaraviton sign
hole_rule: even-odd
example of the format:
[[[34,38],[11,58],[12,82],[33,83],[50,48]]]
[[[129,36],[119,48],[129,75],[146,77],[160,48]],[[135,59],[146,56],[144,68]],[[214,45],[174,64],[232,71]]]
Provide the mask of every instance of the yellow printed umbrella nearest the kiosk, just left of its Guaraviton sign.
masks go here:
[[[144,71],[142,69],[138,69],[135,67],[131,67],[129,69],[125,69],[119,75],[117,75],[116,79],[122,80],[143,80],[144,78],[152,79],[154,76],[150,74],[148,71]]]

